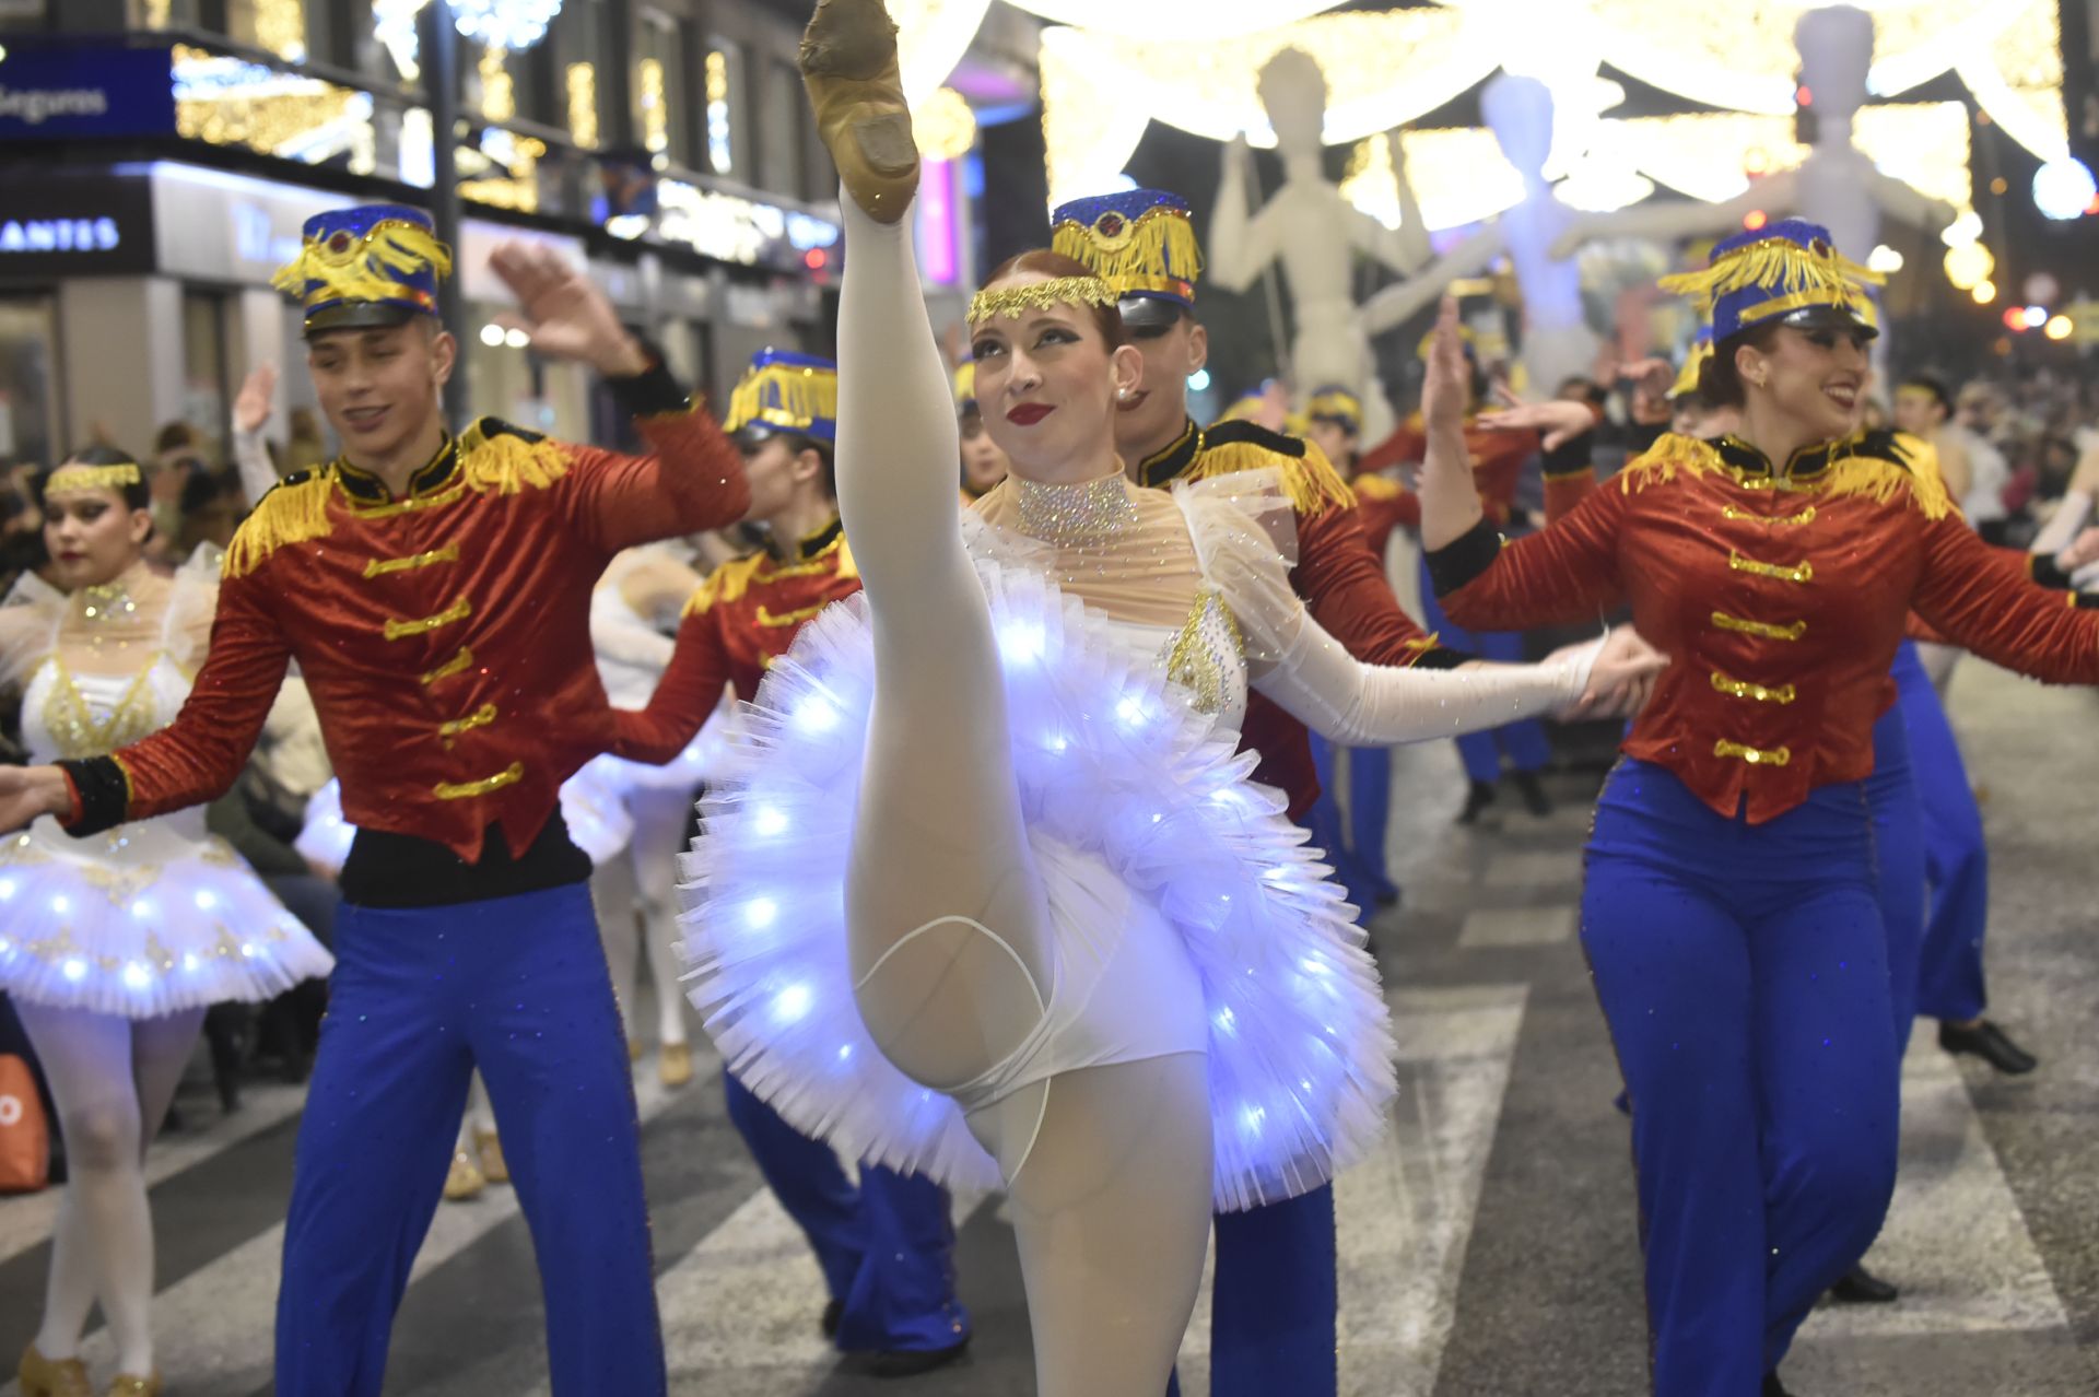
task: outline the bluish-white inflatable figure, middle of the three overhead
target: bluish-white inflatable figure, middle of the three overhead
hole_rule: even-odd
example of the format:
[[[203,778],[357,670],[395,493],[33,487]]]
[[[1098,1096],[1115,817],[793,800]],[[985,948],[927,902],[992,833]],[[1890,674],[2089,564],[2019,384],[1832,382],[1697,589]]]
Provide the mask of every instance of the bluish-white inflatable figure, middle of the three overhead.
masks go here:
[[[1476,277],[1494,258],[1507,256],[1524,294],[1524,371],[1536,392],[1551,392],[1570,373],[1589,373],[1597,350],[1597,338],[1583,323],[1581,268],[1553,252],[1555,239],[1576,220],[1545,178],[1545,159],[1553,149],[1553,94],[1536,78],[1497,73],[1480,92],[1480,113],[1501,153],[1524,176],[1524,201],[1419,277],[1373,296],[1362,306],[1362,319],[1373,336],[1404,325],[1434,306],[1446,285]]]

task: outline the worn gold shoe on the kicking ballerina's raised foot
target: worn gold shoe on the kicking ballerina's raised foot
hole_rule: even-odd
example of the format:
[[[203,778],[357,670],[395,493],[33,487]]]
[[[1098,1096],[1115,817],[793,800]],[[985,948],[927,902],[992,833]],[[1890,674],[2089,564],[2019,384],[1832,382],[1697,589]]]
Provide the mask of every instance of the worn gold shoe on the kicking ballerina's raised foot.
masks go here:
[[[917,193],[917,141],[882,0],[819,0],[800,63],[846,193],[875,222],[896,222]]]

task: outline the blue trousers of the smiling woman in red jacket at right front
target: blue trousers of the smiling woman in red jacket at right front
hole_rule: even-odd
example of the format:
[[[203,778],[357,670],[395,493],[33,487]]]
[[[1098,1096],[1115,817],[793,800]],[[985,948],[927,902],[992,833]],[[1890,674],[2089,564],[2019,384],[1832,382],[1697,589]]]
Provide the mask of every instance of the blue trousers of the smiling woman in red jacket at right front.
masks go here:
[[[1757,1397],[1895,1187],[1887,933],[1858,785],[1765,824],[1620,761],[1583,950],[1633,1101],[1656,1397]]]

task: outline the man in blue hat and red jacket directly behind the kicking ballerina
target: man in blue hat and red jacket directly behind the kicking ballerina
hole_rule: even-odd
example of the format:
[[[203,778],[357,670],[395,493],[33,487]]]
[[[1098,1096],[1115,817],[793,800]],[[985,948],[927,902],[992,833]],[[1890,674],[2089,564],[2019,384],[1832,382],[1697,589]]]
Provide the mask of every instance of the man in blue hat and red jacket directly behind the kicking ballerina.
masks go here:
[[[1467,663],[1400,610],[1383,564],[1362,541],[1356,497],[1318,447],[1251,422],[1199,428],[1188,417],[1188,375],[1209,357],[1209,336],[1194,319],[1201,252],[1188,203],[1136,189],[1075,199],[1052,224],[1054,248],[1123,296],[1123,325],[1144,354],[1144,386],[1121,403],[1115,432],[1131,478],[1163,489],[1234,470],[1280,472],[1297,506],[1293,583],[1312,617],[1373,665]],[[1625,644],[1637,638],[1627,633]],[[1318,797],[1303,724],[1253,694],[1241,747],[1259,753],[1255,780],[1278,787],[1291,818],[1303,822]],[[1333,1187],[1220,1215],[1211,1393],[1318,1397],[1337,1387]]]

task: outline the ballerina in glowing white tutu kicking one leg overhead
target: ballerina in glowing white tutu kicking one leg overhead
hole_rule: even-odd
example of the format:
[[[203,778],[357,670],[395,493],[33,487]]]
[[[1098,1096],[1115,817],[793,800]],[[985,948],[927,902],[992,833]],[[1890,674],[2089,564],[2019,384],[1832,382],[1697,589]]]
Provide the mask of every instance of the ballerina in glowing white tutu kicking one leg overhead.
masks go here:
[[[812,621],[745,713],[691,864],[695,998],[798,1126],[1005,1181],[1041,1393],[1157,1397],[1211,1204],[1327,1181],[1394,1082],[1348,908],[1232,757],[1247,661],[1337,738],[1400,740],[1654,659],[1352,661],[1291,592],[1280,491],[1125,480],[1112,411],[1142,359],[1054,254],[972,306],[1014,476],[966,550],[879,2],[819,4],[802,69],[846,185],[838,487],[867,602]]]

